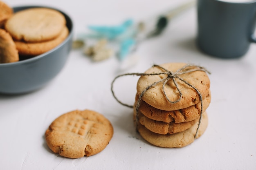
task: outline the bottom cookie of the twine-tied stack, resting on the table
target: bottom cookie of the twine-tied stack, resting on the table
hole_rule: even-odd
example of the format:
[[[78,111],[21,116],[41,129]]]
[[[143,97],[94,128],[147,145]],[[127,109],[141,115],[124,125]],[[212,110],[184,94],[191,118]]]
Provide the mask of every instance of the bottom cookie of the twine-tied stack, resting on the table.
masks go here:
[[[151,132],[141,124],[138,124],[137,130],[141,137],[143,137],[150,144],[163,148],[182,148],[191,144],[195,139],[200,137],[208,126],[207,113],[202,115],[202,121],[195,137],[198,123],[194,124],[191,128],[174,134],[161,135]]]

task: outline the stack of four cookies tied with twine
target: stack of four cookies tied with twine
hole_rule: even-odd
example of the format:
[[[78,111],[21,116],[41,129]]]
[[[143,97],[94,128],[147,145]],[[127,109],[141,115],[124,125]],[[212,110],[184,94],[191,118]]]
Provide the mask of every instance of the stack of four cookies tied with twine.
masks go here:
[[[209,88],[210,80],[202,67],[166,63],[149,68],[137,82],[134,104],[141,137],[165,148],[191,144],[208,125]]]

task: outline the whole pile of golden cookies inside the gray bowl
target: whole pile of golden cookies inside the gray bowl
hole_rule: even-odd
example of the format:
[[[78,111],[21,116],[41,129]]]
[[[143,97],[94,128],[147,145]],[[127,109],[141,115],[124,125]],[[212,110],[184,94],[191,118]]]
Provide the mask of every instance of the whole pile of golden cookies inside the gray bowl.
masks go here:
[[[14,13],[0,1],[0,15],[0,63],[43,54],[69,34],[65,16],[55,9],[31,7]]]

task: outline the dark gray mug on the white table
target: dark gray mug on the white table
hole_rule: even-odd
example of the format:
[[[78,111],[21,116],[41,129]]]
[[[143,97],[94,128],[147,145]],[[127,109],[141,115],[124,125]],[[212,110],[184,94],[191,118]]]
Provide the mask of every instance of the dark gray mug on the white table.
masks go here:
[[[238,58],[256,42],[256,1],[198,0],[199,49],[215,57]]]

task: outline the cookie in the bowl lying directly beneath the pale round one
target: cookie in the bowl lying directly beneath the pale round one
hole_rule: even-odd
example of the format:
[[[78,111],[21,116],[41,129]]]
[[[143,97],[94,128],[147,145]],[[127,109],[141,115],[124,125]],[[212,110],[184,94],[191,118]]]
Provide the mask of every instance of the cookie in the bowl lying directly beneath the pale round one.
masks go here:
[[[44,42],[24,42],[24,41],[14,41],[19,55],[25,56],[35,56],[45,53],[54,47],[58,46],[63,42],[69,34],[67,27],[64,27],[61,34],[53,40]]]

